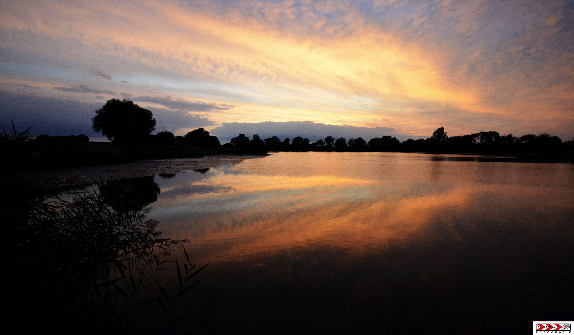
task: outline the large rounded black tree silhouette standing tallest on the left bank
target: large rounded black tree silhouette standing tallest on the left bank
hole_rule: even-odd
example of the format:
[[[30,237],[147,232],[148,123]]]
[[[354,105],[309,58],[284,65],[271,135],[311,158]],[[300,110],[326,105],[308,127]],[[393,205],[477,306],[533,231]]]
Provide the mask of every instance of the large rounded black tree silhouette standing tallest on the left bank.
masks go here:
[[[156,119],[151,111],[139,107],[133,101],[110,99],[95,111],[92,128],[119,145],[147,143],[156,129]]]

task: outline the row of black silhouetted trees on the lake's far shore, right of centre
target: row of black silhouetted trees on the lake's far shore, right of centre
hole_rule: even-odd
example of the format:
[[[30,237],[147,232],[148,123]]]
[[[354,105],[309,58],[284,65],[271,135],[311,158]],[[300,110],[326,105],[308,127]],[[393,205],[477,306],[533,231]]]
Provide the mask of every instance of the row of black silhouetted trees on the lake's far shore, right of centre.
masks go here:
[[[241,148],[246,151],[405,151],[421,153],[479,153],[479,154],[538,154],[572,155],[574,139],[563,142],[559,137],[542,133],[514,137],[512,134],[500,135],[496,131],[481,131],[476,134],[448,137],[444,128],[438,128],[427,139],[408,139],[399,141],[396,137],[383,136],[371,138],[334,138],[331,136],[311,143],[308,138],[296,137],[291,141],[274,136],[261,140],[253,135],[250,140],[245,134],[231,139],[223,145]]]

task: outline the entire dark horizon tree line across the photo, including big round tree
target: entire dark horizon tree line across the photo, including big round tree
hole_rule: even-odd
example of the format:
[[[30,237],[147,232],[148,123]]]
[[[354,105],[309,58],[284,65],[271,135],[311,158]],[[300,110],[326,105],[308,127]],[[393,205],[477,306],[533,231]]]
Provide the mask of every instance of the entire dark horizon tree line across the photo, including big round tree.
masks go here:
[[[448,137],[444,127],[437,128],[426,139],[407,139],[404,142],[396,137],[383,136],[369,139],[361,137],[346,139],[328,136],[311,143],[308,138],[295,137],[281,140],[277,136],[261,139],[254,134],[250,139],[239,134],[230,142],[221,144],[218,137],[210,135],[204,128],[189,131],[184,136],[170,131],[156,129],[156,119],[152,111],[139,107],[131,100],[110,99],[102,108],[95,111],[92,118],[94,131],[107,137],[113,145],[130,146],[186,146],[186,147],[226,147],[241,149],[242,153],[266,153],[267,151],[459,151],[459,152],[515,152],[515,153],[572,153],[574,139],[563,142],[559,137],[547,133],[526,134],[514,137],[500,135],[497,131]],[[3,127],[2,127],[3,129]],[[18,133],[13,126],[13,135],[4,130],[2,142],[29,141],[30,128]],[[56,136],[39,135],[34,142],[88,143],[86,135]]]

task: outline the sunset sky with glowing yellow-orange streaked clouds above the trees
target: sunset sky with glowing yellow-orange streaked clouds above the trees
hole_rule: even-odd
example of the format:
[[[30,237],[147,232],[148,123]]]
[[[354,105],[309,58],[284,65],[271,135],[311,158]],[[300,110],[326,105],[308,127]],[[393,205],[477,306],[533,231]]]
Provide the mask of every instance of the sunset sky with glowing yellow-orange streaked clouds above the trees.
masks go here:
[[[568,140],[574,2],[0,3],[3,126],[97,137],[90,119],[111,98],[149,107],[157,130],[223,141],[322,136],[312,123],[367,138],[444,126]]]

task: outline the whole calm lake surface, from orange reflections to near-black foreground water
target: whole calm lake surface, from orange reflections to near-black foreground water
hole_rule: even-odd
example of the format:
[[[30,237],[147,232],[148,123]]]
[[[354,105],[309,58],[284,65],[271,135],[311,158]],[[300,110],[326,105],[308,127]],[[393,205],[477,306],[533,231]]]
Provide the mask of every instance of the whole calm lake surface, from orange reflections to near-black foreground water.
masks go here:
[[[506,159],[507,160],[507,159]],[[223,334],[530,333],[574,318],[574,165],[277,153],[156,176]]]

